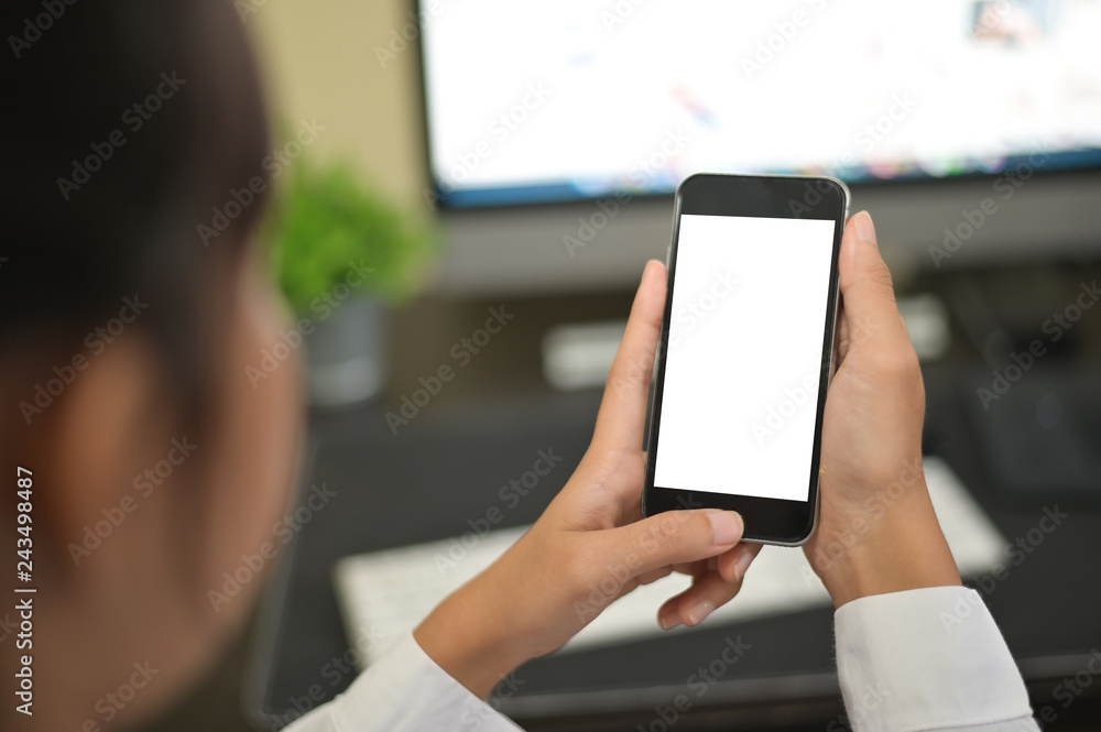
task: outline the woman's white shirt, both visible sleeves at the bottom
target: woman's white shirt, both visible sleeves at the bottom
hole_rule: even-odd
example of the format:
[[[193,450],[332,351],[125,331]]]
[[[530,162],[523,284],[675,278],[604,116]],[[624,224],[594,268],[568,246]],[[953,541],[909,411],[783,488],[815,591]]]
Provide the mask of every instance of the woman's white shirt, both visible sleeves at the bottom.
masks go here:
[[[737,602],[737,599],[734,600]],[[1005,641],[974,590],[935,587],[853,600],[835,613],[853,732],[1038,732]],[[410,633],[348,690],[287,732],[515,732]]]

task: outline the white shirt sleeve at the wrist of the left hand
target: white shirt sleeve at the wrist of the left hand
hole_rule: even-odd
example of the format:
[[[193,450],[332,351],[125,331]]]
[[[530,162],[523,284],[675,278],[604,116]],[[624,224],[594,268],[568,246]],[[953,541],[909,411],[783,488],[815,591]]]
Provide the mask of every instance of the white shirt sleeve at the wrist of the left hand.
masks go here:
[[[516,732],[509,718],[451,678],[406,633],[342,695],[286,732]]]

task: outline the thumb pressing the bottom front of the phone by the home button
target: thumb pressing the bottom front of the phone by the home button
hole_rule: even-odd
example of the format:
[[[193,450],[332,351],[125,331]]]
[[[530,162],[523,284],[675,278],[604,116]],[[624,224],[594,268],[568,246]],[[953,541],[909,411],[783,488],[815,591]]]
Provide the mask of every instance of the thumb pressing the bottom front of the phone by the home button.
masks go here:
[[[598,532],[599,556],[625,565],[634,576],[722,554],[742,538],[744,524],[733,511],[667,511],[633,524]]]

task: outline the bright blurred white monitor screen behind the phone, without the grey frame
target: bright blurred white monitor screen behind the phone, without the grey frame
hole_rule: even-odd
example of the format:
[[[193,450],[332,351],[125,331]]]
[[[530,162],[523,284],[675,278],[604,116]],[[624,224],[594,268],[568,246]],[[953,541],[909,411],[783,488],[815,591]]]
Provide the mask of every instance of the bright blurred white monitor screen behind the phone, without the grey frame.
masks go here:
[[[1101,164],[1101,0],[424,0],[429,165],[462,208]]]

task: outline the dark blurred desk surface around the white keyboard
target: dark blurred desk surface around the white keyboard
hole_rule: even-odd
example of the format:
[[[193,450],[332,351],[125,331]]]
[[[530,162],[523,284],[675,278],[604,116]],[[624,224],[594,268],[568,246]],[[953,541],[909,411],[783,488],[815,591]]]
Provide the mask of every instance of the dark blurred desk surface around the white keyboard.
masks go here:
[[[975,458],[958,384],[935,372],[926,380],[927,451],[952,465],[1007,537],[1025,535],[1051,501],[1006,500],[991,488]],[[286,719],[315,685],[315,696],[328,699],[351,681],[351,674],[334,675],[331,666],[348,648],[330,576],[337,558],[461,534],[468,518],[500,503],[499,488],[530,468],[536,450],[553,447],[565,460],[505,511],[501,525],[534,521],[580,460],[598,401],[590,392],[509,404],[429,405],[396,436],[379,407],[315,418],[306,484],[324,482],[337,495],[297,535],[270,589],[247,700],[258,721],[270,728],[271,714]],[[1097,496],[1101,491],[1092,502],[1060,503],[1071,514],[1065,525],[985,594],[1037,688],[1083,668],[1090,648],[1101,645]],[[517,673],[523,687],[502,708],[532,730],[579,718],[635,729],[654,718],[655,707],[683,692],[687,678],[718,657],[728,637],[740,636],[751,652],[698,700],[697,710],[757,726],[829,721],[840,711],[831,620],[828,609],[819,609],[539,659]]]

